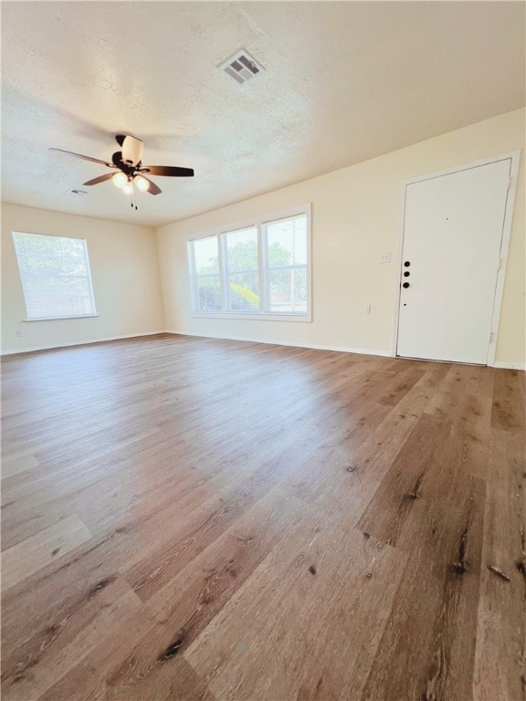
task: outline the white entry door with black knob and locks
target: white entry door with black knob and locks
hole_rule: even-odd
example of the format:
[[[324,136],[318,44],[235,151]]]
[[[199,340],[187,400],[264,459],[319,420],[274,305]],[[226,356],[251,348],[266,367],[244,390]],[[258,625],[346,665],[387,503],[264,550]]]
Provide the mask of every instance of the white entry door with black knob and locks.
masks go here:
[[[487,363],[510,167],[406,186],[398,355]]]

